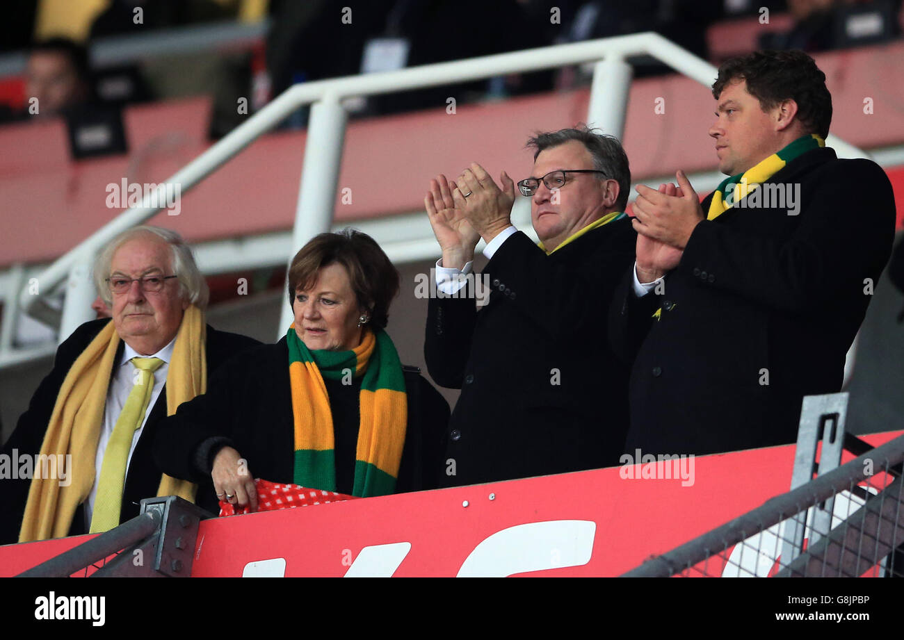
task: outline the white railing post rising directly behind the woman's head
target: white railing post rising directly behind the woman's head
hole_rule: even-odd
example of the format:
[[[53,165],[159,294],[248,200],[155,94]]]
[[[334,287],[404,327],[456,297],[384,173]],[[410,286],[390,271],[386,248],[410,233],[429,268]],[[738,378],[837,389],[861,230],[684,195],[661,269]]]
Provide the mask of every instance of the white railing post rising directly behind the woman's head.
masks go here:
[[[333,208],[336,188],[339,186],[347,120],[348,115],[334,94],[327,94],[311,105],[311,116],[307,122],[305,165],[301,172],[301,189],[298,193],[289,259],[308,240],[318,233],[330,231],[333,225]],[[285,334],[294,319],[292,309],[283,305],[277,337]]]

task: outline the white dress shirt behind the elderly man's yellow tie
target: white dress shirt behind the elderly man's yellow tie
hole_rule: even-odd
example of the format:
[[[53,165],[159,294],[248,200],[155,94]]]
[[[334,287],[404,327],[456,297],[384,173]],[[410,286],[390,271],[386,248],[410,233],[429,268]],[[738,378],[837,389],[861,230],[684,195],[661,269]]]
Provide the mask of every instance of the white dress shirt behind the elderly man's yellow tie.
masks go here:
[[[153,355],[142,355],[137,353],[135,349],[125,344],[118,364],[113,365],[113,373],[110,376],[110,386],[107,390],[107,404],[104,407],[103,428],[100,431],[100,439],[98,441],[98,455],[94,458],[94,485],[91,486],[91,493],[88,500],[85,501],[85,530],[88,531],[91,526],[91,515],[94,513],[94,500],[98,495],[98,481],[100,479],[100,467],[104,463],[104,453],[107,451],[107,445],[110,436],[113,435],[113,428],[116,427],[116,421],[119,413],[122,412],[123,405],[126,404],[128,394],[132,392],[135,386],[136,367],[132,362],[132,358],[159,358],[164,361],[163,364],[154,372],[154,391],[151,392],[151,401],[147,404],[145,418],[141,421],[141,427],[135,430],[132,437],[132,446],[128,449],[128,458],[126,461],[126,475],[128,475],[128,465],[132,461],[132,453],[138,444],[138,438],[141,438],[141,432],[145,428],[147,416],[154,408],[160,392],[163,391],[166,383],[166,372],[169,370],[169,362],[173,359],[173,347],[175,338],[170,341],[163,349]]]

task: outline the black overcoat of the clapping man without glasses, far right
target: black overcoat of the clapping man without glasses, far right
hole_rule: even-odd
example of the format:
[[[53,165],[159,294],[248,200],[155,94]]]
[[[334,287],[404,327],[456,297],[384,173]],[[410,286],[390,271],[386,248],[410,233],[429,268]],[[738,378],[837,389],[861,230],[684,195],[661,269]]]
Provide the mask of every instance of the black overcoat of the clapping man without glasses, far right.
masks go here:
[[[662,295],[636,297],[626,270],[609,325],[613,346],[634,362],[628,453],[795,442],[803,397],[841,389],[845,354],[890,255],[891,184],[870,160],[820,148],[767,185],[776,195],[798,190],[799,211],[771,200],[702,221]]]

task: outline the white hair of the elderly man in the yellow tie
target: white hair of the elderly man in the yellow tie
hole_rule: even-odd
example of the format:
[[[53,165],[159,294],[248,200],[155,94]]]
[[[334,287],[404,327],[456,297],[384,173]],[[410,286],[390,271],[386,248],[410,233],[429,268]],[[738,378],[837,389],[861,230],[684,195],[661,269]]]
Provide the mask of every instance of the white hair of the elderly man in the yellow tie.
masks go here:
[[[113,304],[113,296],[107,286],[113,254],[129,240],[148,237],[163,240],[169,245],[171,251],[170,267],[179,280],[179,296],[201,309],[206,308],[211,292],[207,287],[207,281],[202,276],[201,270],[194,261],[192,249],[185,244],[182,236],[175,231],[150,225],[123,231],[100,250],[97,259],[94,260],[94,286],[97,287],[101,299],[107,305]]]

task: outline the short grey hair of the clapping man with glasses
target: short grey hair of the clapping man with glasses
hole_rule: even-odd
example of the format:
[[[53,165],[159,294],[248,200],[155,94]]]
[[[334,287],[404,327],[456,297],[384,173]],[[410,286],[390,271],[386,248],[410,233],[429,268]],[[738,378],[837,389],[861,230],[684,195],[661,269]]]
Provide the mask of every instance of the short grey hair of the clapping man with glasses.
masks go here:
[[[598,129],[579,124],[569,129],[538,132],[527,141],[526,146],[536,149],[533,154],[533,159],[536,160],[542,151],[564,145],[571,140],[577,140],[585,146],[593,158],[593,167],[605,173],[604,176],[598,178],[600,181],[615,180],[618,183],[616,205],[621,211],[625,211],[631,189],[631,167],[628,165],[625,149],[622,148],[616,136],[608,136],[598,132]]]

